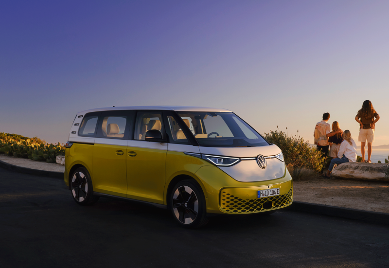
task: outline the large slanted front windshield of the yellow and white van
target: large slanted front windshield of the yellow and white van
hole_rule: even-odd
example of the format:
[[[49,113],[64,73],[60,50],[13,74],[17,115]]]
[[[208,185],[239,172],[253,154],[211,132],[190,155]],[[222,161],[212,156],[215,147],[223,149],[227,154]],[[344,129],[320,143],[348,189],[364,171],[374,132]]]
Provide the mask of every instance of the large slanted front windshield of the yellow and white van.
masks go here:
[[[269,145],[232,112],[178,112],[200,146],[251,147]]]

